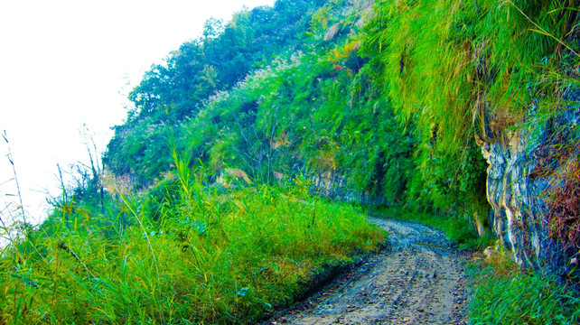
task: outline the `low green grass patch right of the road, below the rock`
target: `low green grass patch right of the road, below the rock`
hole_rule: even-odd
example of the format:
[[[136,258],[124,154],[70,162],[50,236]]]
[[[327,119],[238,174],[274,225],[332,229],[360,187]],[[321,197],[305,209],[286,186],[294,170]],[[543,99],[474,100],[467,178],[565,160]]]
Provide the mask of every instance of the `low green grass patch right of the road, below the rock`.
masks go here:
[[[556,276],[519,269],[500,252],[470,266],[472,324],[577,324],[580,299]]]

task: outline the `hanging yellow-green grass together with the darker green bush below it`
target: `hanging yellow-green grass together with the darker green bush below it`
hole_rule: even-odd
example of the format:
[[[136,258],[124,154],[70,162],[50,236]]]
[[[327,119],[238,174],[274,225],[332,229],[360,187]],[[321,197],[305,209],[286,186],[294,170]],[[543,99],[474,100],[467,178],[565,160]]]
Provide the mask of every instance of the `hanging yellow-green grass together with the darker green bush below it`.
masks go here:
[[[479,145],[500,142],[532,107],[577,87],[577,1],[381,1],[361,52],[377,61],[398,118],[416,125],[411,194],[420,205],[482,214]],[[574,62],[574,63],[571,63]],[[577,77],[577,76],[576,76]],[[533,104],[533,105],[532,105]],[[475,138],[475,141],[472,139]]]

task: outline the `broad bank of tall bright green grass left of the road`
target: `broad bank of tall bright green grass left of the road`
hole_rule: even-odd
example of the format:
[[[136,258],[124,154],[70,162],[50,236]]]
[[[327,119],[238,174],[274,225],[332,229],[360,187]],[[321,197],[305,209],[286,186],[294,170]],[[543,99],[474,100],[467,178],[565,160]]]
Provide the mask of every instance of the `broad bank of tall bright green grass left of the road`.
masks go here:
[[[385,238],[350,205],[203,186],[175,158],[154,190],[70,203],[9,247],[0,324],[255,323]]]

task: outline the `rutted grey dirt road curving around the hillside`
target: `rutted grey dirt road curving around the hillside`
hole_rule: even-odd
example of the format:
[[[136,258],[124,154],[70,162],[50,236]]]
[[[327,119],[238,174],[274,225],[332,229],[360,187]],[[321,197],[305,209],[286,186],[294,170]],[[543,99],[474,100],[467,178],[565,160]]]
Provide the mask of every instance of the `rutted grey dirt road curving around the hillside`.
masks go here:
[[[391,249],[267,324],[465,324],[463,259],[441,232],[372,218]]]

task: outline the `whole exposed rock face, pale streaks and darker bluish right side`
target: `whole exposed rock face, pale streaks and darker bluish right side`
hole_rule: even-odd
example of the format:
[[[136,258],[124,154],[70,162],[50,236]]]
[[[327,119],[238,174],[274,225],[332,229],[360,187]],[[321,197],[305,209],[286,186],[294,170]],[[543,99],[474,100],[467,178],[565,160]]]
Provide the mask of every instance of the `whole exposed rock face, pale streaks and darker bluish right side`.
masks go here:
[[[503,132],[497,142],[482,145],[483,156],[490,164],[490,222],[500,243],[513,251],[520,265],[569,274],[570,256],[563,255],[560,244],[548,236],[545,218],[549,210],[547,190],[554,179],[549,173],[538,177],[534,171],[546,162],[546,148],[554,135],[580,123],[580,110],[576,107],[544,121],[529,122],[533,126],[528,129]],[[551,163],[551,168],[557,169],[556,162]]]

